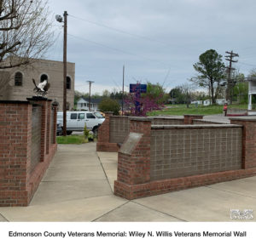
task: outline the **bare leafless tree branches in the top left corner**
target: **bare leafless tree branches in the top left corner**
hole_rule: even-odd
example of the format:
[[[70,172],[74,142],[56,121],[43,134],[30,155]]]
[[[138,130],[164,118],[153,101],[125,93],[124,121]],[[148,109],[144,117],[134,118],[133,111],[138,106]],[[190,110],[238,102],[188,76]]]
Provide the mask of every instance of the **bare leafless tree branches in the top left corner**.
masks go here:
[[[42,58],[52,37],[47,1],[0,0],[0,69]]]

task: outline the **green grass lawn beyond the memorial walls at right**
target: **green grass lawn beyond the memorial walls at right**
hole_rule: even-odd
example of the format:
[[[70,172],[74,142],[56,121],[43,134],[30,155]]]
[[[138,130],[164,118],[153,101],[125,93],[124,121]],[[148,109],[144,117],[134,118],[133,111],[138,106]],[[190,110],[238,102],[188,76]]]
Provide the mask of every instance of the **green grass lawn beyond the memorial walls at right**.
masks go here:
[[[148,116],[159,116],[159,115],[175,115],[183,116],[184,114],[199,114],[199,115],[214,115],[223,113],[224,105],[167,105],[162,111],[151,111]],[[240,108],[247,109],[247,105],[228,105],[228,108]]]

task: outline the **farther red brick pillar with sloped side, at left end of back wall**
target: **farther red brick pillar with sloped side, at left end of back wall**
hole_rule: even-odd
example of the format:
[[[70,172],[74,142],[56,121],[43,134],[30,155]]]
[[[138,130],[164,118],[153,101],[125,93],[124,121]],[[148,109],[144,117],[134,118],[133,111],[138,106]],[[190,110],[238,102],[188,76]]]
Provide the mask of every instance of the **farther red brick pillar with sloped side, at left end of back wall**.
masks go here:
[[[110,117],[113,115],[113,112],[105,112],[105,121],[102,123],[98,129],[98,140],[96,145],[96,151],[108,151],[108,152],[117,152],[119,147],[116,143],[110,143]]]

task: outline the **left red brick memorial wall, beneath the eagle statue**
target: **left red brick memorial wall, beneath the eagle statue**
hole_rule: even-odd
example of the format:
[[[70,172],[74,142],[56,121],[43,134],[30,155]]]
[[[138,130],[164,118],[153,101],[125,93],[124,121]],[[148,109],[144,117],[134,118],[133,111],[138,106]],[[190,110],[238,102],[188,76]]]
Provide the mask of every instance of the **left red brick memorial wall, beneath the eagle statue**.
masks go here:
[[[55,132],[45,123],[50,105],[51,100],[46,99],[0,101],[0,207],[27,206],[55,155],[56,144],[51,144],[47,136]],[[32,128],[32,107],[41,108],[38,128]],[[41,137],[36,140],[39,147],[32,145],[32,134]],[[38,149],[40,152],[36,152]]]

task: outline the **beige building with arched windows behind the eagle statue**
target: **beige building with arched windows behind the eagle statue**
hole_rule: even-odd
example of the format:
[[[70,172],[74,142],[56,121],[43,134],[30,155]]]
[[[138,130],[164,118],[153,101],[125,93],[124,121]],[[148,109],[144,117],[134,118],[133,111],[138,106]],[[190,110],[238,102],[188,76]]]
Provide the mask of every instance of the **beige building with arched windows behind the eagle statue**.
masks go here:
[[[75,64],[67,62],[67,110],[72,110],[74,100]],[[0,100],[26,100],[36,95],[32,78],[38,84],[45,79],[50,84],[48,99],[63,104],[63,63],[53,60],[33,60],[31,65],[0,70]]]

